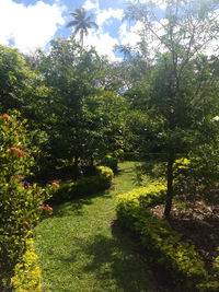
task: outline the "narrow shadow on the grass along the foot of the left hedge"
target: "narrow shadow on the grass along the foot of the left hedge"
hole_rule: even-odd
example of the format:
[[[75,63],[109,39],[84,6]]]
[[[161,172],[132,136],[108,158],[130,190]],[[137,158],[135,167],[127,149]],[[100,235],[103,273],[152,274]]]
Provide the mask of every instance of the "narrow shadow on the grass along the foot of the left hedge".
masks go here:
[[[53,217],[68,217],[72,215],[72,213],[77,215],[83,215],[83,206],[92,205],[93,199],[96,197],[104,197],[105,199],[111,199],[112,196],[110,195],[110,189],[99,191],[94,195],[90,196],[80,196],[77,197],[76,199],[72,199],[69,202],[64,202],[60,205],[54,206],[54,213]]]

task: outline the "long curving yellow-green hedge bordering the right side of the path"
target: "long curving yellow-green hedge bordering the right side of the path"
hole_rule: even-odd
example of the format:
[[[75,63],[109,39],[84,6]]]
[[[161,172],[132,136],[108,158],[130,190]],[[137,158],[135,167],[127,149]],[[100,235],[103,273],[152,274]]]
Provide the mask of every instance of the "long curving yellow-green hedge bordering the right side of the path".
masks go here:
[[[136,232],[151,260],[161,265],[186,291],[218,291],[219,257],[214,262],[214,277],[204,268],[194,246],[181,241],[168,221],[153,217],[147,208],[164,199],[165,185],[153,183],[117,197],[117,217],[124,225]],[[184,290],[185,291],[185,290]]]

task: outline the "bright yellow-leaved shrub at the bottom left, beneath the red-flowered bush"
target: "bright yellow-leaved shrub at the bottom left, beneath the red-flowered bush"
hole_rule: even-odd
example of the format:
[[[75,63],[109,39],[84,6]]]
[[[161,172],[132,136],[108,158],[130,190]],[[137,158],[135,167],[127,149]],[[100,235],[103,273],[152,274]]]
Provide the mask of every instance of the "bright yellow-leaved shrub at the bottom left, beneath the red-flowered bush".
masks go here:
[[[11,284],[15,292],[42,291],[41,269],[37,265],[37,255],[34,253],[33,240],[27,240],[26,252],[21,262],[15,266],[15,275],[11,279]]]

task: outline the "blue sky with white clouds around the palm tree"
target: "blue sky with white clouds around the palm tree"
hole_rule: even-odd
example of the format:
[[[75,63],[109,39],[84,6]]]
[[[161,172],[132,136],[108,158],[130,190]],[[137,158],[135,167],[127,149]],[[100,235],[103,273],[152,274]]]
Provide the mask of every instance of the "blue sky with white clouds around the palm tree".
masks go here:
[[[161,11],[164,9],[162,0],[153,2]],[[68,38],[72,34],[73,28],[66,24],[73,20],[70,12],[81,7],[88,14],[95,14],[93,21],[99,25],[99,30],[89,32],[84,46],[94,46],[100,55],[118,61],[115,45],[134,46],[140,40],[140,24],[123,20],[126,0],[0,0],[0,44],[25,54],[48,49],[55,37]]]

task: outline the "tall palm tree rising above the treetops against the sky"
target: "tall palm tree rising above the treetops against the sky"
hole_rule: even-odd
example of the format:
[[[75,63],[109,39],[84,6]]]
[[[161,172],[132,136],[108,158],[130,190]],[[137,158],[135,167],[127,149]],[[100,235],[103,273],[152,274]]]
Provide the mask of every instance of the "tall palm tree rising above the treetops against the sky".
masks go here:
[[[99,28],[97,24],[91,19],[93,17],[93,14],[90,16],[87,16],[85,10],[83,8],[77,8],[73,9],[73,12],[70,13],[70,15],[74,19],[73,21],[70,21],[66,26],[74,26],[74,32],[73,34],[80,34],[80,43],[81,46],[83,47],[83,36],[84,34],[88,35],[88,28],[91,28],[92,26],[95,28]]]

